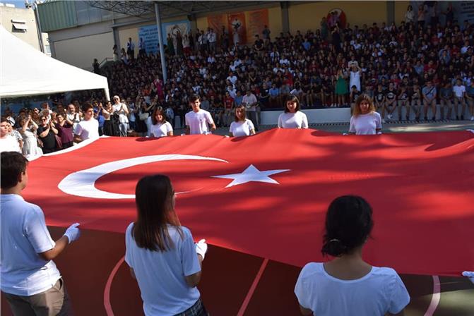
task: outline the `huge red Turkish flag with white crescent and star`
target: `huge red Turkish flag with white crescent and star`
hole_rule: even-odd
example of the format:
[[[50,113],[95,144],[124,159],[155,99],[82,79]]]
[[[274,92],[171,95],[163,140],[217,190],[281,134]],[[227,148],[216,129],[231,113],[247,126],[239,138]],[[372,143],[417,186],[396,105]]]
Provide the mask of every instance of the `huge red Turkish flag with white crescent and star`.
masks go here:
[[[47,224],[124,232],[142,176],[167,174],[195,238],[302,266],[321,257],[340,195],[374,209],[372,265],[409,274],[474,270],[474,134],[333,135],[268,130],[248,138],[101,138],[30,162],[25,199]]]

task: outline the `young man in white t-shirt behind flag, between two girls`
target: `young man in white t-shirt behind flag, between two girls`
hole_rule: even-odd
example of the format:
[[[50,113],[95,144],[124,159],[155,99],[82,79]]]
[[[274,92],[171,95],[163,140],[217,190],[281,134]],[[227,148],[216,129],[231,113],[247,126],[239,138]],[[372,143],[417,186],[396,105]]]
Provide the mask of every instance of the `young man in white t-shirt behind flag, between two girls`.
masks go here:
[[[209,134],[215,130],[215,123],[211,113],[201,109],[199,95],[189,97],[189,104],[192,111],[186,113],[184,121],[186,122],[186,134]]]

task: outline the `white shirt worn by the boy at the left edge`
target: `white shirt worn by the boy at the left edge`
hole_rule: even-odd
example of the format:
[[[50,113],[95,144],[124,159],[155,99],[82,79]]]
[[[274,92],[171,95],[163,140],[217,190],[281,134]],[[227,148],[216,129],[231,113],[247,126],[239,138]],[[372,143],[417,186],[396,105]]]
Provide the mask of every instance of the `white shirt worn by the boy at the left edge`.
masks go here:
[[[16,194],[2,194],[0,204],[1,291],[32,296],[49,290],[61,274],[38,255],[55,245],[45,214]]]

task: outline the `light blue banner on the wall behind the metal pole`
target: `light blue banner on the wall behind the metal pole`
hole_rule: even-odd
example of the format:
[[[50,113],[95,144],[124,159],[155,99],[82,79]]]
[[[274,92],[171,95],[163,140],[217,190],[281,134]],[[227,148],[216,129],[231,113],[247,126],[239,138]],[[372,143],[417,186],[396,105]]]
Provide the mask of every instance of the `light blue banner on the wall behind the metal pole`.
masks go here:
[[[169,34],[172,36],[176,36],[179,32],[182,35],[189,33],[191,30],[191,23],[188,20],[180,20],[170,23],[162,23],[161,24],[161,31],[163,35],[163,43],[166,45],[166,37]],[[158,30],[156,25],[147,25],[138,28],[138,41],[143,39],[145,43],[146,53],[149,54],[152,52],[153,54],[158,53]],[[138,43],[136,43],[138,45]]]

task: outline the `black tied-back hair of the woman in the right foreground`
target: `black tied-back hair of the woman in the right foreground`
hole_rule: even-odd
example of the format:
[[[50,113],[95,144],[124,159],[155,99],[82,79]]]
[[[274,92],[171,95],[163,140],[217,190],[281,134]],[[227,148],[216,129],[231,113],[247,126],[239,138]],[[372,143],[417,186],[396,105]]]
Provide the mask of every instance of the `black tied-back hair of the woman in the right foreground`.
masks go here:
[[[367,241],[372,227],[372,207],[364,198],[355,195],[337,197],[326,213],[321,253],[333,257],[352,253]]]

